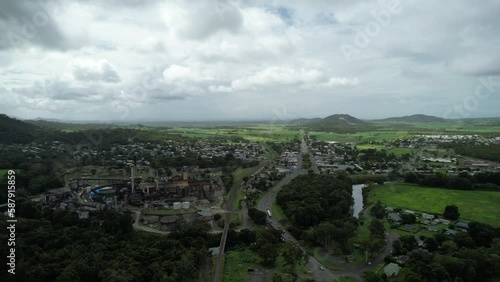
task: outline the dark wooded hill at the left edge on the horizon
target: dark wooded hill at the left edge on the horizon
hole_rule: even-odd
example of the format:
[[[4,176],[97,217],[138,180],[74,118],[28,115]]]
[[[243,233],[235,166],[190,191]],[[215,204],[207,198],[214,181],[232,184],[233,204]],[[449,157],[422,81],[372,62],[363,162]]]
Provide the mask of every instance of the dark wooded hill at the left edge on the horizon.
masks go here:
[[[0,144],[29,143],[40,133],[37,126],[0,114]]]

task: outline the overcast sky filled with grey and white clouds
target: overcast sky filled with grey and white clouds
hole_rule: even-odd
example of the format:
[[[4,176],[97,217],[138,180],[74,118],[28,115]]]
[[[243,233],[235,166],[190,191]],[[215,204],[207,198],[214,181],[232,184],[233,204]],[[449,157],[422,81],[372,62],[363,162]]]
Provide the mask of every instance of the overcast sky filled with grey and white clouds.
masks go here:
[[[0,113],[500,116],[499,14],[495,0],[0,0]]]

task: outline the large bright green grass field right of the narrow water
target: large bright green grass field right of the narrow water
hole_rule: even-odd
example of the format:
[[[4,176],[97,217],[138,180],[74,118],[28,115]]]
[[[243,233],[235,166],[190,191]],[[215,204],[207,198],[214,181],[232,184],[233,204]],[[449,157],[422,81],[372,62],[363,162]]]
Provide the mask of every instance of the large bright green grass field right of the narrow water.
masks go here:
[[[442,214],[446,205],[454,204],[459,209],[460,219],[500,227],[500,192],[460,191],[392,183],[376,187],[372,199],[388,206],[437,214]]]

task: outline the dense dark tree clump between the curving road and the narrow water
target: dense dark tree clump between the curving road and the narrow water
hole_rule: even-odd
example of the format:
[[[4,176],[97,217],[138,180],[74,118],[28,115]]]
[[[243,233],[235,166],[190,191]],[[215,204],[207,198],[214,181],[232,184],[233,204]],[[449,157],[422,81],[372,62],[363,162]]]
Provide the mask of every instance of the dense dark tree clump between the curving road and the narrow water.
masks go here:
[[[298,176],[278,192],[290,233],[328,251],[352,251],[357,220],[351,216],[352,184],[346,174]]]

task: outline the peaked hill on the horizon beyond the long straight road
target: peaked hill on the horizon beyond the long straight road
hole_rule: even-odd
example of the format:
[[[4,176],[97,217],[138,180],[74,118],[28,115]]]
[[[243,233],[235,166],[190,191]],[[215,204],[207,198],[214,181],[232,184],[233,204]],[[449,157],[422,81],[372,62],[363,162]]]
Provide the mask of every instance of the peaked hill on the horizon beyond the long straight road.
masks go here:
[[[374,129],[374,125],[347,114],[334,114],[305,124],[310,131],[355,133]]]

